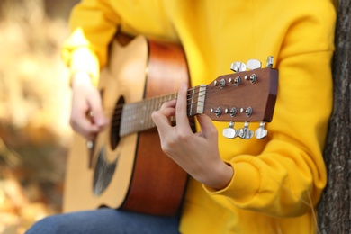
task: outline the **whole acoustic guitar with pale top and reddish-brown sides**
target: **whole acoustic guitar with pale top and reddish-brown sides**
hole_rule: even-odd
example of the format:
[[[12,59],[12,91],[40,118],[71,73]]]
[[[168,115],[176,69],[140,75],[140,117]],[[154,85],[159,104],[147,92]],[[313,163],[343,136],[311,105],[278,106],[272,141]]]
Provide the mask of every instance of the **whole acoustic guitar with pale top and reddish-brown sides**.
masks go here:
[[[194,115],[206,114],[212,121],[229,121],[223,130],[228,138],[265,138],[278,83],[278,71],[267,64],[261,68],[257,60],[236,62],[231,66],[235,73],[190,88],[191,126]],[[178,44],[144,36],[121,36],[112,42],[99,84],[111,123],[88,146],[75,135],[67,161],[64,211],[107,206],[170,216],[179,210],[188,175],[163,153],[151,113],[176,98],[179,86],[189,83],[188,74]],[[235,130],[235,121],[246,122],[245,127]],[[249,121],[262,122],[256,133],[247,127]]]

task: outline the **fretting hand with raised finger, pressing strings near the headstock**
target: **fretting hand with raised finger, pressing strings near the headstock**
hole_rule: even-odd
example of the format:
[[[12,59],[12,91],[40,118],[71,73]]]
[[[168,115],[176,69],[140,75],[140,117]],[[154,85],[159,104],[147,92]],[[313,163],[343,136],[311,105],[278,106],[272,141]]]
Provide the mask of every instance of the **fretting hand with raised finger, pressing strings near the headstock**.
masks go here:
[[[193,133],[186,114],[186,85],[182,85],[178,99],[164,103],[153,112],[161,147],[175,163],[202,184],[214,189],[226,187],[234,170],[220,158],[218,131],[206,115],[198,115],[201,132]],[[176,126],[169,121],[175,115]]]

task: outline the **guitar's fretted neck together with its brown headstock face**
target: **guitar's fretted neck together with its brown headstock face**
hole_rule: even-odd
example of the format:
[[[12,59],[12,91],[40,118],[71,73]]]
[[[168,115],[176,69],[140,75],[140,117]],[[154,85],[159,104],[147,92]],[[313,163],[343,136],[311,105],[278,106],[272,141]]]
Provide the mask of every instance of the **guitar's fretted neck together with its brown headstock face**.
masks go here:
[[[211,84],[188,89],[187,115],[203,113],[212,121],[270,122],[275,110],[277,85],[278,71],[273,68],[219,76]],[[166,94],[124,104],[118,118],[121,120],[120,137],[154,128],[152,112],[176,97],[177,94]]]

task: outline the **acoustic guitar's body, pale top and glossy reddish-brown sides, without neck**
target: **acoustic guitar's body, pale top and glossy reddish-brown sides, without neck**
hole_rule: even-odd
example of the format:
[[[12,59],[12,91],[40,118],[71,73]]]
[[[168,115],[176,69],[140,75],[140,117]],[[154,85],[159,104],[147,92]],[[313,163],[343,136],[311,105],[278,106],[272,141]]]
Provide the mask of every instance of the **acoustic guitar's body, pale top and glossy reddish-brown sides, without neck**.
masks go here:
[[[157,130],[120,137],[116,122],[121,117],[119,106],[174,93],[184,82],[189,77],[180,46],[143,36],[128,43],[113,41],[109,65],[100,79],[103,108],[111,124],[91,149],[75,135],[67,161],[65,212],[102,206],[166,216],[178,211],[187,174],[163,153]]]

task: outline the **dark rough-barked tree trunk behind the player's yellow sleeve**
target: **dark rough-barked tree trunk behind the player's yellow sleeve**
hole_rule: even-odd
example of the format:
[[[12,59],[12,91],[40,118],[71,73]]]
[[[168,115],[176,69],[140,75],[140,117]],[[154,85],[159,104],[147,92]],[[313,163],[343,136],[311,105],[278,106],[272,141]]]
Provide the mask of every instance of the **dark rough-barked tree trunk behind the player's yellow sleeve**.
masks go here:
[[[351,2],[338,1],[333,59],[334,110],[324,150],[328,184],[319,205],[320,233],[351,233]],[[318,82],[318,81],[317,81]]]

